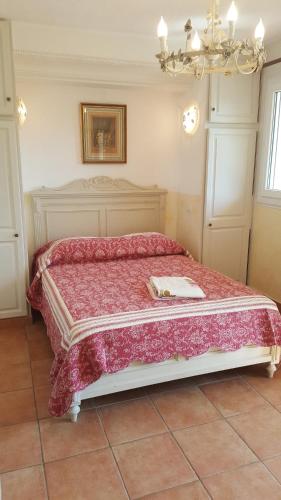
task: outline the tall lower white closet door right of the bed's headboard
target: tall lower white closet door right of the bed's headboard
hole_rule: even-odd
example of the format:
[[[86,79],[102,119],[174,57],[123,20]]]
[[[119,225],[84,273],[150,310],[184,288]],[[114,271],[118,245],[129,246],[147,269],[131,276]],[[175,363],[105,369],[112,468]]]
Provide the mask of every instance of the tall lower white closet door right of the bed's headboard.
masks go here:
[[[238,281],[247,274],[256,132],[209,130],[203,263]]]

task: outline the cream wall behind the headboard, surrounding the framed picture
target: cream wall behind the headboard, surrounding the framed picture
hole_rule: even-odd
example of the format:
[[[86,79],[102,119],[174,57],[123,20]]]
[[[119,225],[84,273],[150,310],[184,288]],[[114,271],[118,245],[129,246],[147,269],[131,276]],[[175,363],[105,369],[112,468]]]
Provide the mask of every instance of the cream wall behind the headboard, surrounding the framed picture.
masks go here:
[[[28,193],[42,185],[108,175],[168,190],[166,232],[176,237],[177,191],[182,162],[181,116],[175,96],[159,89],[94,88],[62,83],[17,81],[17,94],[28,118],[20,130],[28,247],[33,250]],[[81,162],[80,102],[127,104],[128,162],[84,165]]]

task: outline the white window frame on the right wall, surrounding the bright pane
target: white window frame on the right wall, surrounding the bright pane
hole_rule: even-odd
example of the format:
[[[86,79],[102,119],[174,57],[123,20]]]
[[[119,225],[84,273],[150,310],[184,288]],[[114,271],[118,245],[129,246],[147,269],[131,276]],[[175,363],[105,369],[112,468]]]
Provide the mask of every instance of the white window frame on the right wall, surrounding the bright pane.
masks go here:
[[[272,137],[274,94],[281,92],[281,64],[266,68],[262,77],[259,133],[256,154],[256,199],[281,208],[281,190],[269,189],[269,162]]]

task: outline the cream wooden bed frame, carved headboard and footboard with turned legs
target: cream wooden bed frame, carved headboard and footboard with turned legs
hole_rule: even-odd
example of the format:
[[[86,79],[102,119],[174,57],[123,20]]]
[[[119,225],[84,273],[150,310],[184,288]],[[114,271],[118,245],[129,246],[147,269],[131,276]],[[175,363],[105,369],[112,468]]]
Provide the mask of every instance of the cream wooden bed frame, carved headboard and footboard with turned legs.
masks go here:
[[[35,249],[48,240],[69,236],[118,236],[143,231],[164,232],[166,191],[140,187],[124,179],[94,177],[60,188],[32,192]],[[234,352],[211,350],[200,356],[161,363],[132,364],[103,375],[73,397],[70,416],[77,421],[83,399],[242,366],[268,363],[273,377],[280,348],[243,347]]]

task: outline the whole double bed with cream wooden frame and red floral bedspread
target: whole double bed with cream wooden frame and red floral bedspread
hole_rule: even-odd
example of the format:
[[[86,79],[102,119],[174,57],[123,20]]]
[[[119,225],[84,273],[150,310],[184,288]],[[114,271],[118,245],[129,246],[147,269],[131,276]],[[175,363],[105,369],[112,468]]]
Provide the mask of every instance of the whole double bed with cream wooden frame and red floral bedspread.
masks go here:
[[[240,366],[273,376],[276,305],[164,236],[165,195],[105,177],[32,194],[28,298],[55,353],[51,415],[75,422],[83,399]],[[165,274],[193,278],[206,299],[154,300],[146,283]]]

